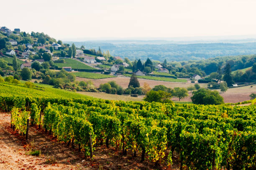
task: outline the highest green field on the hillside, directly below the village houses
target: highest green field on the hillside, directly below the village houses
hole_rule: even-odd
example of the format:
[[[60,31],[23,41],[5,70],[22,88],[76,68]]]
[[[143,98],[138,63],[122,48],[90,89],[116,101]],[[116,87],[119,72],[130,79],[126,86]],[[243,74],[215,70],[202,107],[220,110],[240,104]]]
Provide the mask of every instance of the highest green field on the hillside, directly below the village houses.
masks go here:
[[[90,67],[89,65],[86,65],[82,62],[79,62],[77,60],[71,59],[71,58],[65,58],[64,59],[66,63],[57,63],[54,62],[55,65],[57,65],[58,67],[62,68],[62,67],[72,67],[72,69],[92,69],[92,70],[96,70],[93,67]]]

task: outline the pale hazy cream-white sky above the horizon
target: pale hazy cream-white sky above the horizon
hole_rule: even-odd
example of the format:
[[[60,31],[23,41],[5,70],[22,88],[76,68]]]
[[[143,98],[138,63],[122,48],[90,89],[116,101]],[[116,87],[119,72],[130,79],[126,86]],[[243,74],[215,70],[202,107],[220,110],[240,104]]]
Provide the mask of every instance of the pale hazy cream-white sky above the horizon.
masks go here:
[[[57,39],[255,35],[256,0],[4,0],[0,25]]]

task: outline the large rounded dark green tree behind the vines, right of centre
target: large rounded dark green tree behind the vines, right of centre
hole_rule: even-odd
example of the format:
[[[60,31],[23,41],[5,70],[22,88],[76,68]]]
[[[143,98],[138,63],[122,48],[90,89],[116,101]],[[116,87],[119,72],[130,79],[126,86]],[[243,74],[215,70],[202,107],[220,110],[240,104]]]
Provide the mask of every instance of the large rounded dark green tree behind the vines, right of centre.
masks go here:
[[[191,97],[194,104],[201,105],[220,105],[224,103],[223,97],[219,92],[214,90],[200,88]]]

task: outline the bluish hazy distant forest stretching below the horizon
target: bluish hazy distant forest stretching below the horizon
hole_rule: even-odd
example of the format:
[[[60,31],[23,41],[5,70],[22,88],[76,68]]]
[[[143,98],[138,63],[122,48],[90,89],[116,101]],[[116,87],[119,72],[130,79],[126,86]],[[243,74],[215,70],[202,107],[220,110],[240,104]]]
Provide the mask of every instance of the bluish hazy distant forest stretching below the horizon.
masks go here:
[[[110,43],[111,42],[111,43]],[[130,60],[186,61],[202,60],[211,57],[228,55],[256,54],[256,42],[247,43],[196,43],[196,44],[152,44],[152,42],[132,41],[84,41],[74,42],[77,47],[96,50],[100,47],[103,51],[109,50],[113,56],[128,57]],[[73,42],[65,42],[72,44]],[[153,42],[154,43],[154,42]]]

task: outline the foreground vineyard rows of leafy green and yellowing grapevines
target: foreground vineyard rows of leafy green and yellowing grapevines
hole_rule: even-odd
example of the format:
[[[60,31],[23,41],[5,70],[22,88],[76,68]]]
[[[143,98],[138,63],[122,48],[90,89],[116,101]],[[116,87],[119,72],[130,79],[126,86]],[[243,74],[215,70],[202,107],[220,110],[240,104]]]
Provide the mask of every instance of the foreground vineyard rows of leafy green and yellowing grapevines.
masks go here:
[[[13,130],[27,121],[92,158],[99,145],[180,169],[256,169],[256,106],[161,104],[1,95]],[[131,153],[131,152],[129,152]]]

